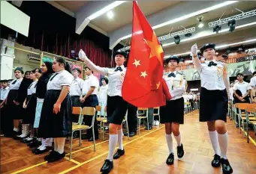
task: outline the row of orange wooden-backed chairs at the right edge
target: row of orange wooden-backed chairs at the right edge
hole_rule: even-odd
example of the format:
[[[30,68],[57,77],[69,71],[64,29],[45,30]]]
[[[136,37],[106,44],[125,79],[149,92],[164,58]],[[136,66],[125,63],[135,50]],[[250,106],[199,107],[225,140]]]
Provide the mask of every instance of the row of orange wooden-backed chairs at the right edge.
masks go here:
[[[245,125],[247,131],[247,143],[248,139],[248,124],[254,126],[254,133],[256,134],[256,104],[249,103],[236,103],[233,105],[232,102],[228,105],[228,115],[230,119],[234,120],[236,125],[236,116],[238,117],[239,132],[241,134],[241,124],[243,128],[243,137],[245,137]],[[256,140],[256,137],[255,137]]]

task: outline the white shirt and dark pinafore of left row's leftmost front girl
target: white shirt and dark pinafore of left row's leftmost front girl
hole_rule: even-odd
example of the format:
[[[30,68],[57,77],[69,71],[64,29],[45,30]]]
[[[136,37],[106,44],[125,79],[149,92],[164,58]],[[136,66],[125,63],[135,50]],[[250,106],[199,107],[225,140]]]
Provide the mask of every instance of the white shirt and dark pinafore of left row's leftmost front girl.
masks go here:
[[[20,114],[20,105],[17,106],[14,104],[14,99],[17,97],[18,90],[20,88],[21,81],[23,81],[23,78],[19,78],[16,80],[11,81],[10,87],[9,87],[9,93],[7,96],[7,102],[5,105],[5,113],[8,113],[3,118],[3,122],[5,124],[3,125],[3,131],[5,136],[10,136],[13,134],[13,128],[14,128],[14,116],[17,114]]]

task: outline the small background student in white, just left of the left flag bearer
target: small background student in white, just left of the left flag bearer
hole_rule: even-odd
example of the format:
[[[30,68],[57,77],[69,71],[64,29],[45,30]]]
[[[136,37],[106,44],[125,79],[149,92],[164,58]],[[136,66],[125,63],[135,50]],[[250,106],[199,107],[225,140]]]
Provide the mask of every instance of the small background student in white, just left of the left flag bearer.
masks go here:
[[[105,107],[107,106],[107,90],[108,79],[106,77],[101,78],[102,86],[98,92],[98,102],[101,105],[101,116],[105,114]]]

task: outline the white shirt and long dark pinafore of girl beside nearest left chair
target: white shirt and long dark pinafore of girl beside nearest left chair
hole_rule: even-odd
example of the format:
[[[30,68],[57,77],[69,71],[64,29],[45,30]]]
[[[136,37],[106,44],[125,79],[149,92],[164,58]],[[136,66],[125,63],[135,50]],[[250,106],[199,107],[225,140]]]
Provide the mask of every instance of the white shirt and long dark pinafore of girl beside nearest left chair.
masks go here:
[[[71,86],[74,77],[66,70],[56,72],[47,84],[44,104],[41,111],[39,137],[69,137],[72,131],[72,102],[71,96],[65,97],[61,104],[60,112],[53,113],[53,105],[59,99],[63,86]]]

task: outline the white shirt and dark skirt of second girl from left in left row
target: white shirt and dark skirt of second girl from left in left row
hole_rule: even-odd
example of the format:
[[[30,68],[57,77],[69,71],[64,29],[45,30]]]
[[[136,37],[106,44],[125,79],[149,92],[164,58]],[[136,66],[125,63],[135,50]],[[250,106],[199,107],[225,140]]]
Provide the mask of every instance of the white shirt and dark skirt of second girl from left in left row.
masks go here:
[[[38,84],[38,81],[33,81],[28,88],[28,91],[27,91],[28,95],[26,97],[27,108],[25,111],[25,116],[23,118],[23,124],[34,125],[35,108],[37,106],[37,97],[35,95],[37,84]]]

